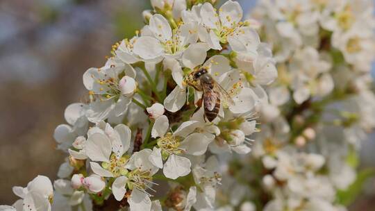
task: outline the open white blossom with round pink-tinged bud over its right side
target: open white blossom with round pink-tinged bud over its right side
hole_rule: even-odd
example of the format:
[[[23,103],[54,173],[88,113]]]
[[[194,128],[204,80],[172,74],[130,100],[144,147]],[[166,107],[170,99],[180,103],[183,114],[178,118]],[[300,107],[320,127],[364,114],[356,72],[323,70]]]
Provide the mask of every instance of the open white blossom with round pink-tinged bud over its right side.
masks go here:
[[[122,73],[124,78],[119,78]],[[124,115],[135,91],[135,75],[131,65],[115,58],[110,58],[104,67],[85,71],[83,84],[90,91],[91,101],[86,111],[89,121],[96,123],[110,115]]]

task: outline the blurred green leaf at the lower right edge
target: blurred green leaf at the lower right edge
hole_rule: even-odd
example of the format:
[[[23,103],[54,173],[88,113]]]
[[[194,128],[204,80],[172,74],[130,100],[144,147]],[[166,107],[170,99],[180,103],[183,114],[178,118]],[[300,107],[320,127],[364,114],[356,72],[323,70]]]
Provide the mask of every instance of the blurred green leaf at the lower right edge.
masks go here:
[[[375,176],[375,169],[363,169],[358,172],[357,178],[353,184],[351,184],[348,189],[339,190],[337,194],[337,201],[342,205],[350,205],[357,199],[363,189],[363,185],[367,179]]]

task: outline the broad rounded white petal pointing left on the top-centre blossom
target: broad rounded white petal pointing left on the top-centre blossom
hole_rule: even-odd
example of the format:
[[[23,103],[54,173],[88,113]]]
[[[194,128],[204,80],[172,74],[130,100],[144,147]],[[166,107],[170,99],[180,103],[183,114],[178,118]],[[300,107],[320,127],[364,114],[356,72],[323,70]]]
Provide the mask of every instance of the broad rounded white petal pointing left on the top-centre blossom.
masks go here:
[[[164,49],[159,40],[153,37],[139,37],[134,44],[133,52],[141,58],[151,60],[162,55]]]

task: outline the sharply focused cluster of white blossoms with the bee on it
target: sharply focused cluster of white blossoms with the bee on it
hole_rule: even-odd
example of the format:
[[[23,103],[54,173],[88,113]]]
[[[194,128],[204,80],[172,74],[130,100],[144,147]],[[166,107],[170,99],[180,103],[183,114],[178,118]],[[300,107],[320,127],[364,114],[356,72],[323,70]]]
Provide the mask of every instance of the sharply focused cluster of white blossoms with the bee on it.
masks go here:
[[[59,179],[15,187],[22,199],[0,210],[217,208],[219,160],[251,151],[272,51],[238,2],[151,4],[147,25],[83,74],[88,95],[54,133],[68,154]]]

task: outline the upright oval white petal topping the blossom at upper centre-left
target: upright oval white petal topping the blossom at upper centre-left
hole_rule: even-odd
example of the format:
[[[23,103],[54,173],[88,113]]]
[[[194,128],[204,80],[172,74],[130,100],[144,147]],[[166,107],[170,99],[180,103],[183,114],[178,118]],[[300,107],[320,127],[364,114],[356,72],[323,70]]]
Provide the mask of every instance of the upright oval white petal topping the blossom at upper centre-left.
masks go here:
[[[167,19],[165,19],[163,15],[153,15],[149,20],[149,26],[150,30],[153,32],[153,35],[155,35],[155,37],[161,40],[162,42],[171,40],[172,29],[171,26],[169,26]]]

